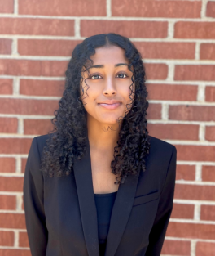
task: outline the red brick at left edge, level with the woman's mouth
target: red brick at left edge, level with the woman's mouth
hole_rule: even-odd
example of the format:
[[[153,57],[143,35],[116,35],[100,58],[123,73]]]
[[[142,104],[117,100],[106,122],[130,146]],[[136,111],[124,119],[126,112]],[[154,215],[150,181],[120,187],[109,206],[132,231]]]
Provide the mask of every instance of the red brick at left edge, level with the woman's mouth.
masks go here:
[[[0,99],[0,112],[20,115],[54,115],[57,100]]]

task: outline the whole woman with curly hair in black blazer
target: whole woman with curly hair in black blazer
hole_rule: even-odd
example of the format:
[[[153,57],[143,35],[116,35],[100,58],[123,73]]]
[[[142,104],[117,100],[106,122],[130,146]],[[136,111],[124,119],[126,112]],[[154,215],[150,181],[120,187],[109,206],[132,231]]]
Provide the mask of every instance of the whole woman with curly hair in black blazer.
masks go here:
[[[72,52],[52,133],[33,138],[24,210],[33,256],[160,255],[175,146],[148,135],[142,57],[99,34]]]

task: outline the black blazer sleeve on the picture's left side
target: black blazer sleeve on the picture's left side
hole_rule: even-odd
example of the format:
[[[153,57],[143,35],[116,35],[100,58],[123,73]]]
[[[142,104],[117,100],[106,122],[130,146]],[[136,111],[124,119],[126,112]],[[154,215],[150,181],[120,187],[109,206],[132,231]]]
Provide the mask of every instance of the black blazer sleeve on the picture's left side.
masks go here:
[[[43,176],[36,137],[33,138],[25,166],[23,201],[31,254],[46,256],[48,231],[43,206]]]

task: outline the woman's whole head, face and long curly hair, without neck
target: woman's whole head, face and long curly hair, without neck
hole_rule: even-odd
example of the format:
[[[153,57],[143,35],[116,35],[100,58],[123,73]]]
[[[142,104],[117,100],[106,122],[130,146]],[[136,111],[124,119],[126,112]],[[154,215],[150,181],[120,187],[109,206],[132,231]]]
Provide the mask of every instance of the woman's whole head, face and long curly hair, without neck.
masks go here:
[[[81,159],[85,154],[86,119],[91,118],[114,128],[121,124],[112,173],[126,177],[137,173],[138,166],[144,171],[144,156],[150,146],[146,74],[134,44],[112,33],[86,38],[73,50],[65,74],[64,94],[52,119],[55,132],[44,150],[43,169],[50,176],[71,172],[73,157]],[[120,104],[110,110],[101,105],[105,101]]]

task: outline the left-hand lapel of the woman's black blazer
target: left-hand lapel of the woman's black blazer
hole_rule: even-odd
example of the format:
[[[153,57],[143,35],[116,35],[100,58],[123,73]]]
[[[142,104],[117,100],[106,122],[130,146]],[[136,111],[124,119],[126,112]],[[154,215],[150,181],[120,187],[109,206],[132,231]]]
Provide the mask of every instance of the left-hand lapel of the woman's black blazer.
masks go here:
[[[74,159],[74,176],[81,211],[81,222],[89,256],[99,256],[97,211],[94,202],[94,188],[91,172],[90,145],[87,139],[86,155]]]

